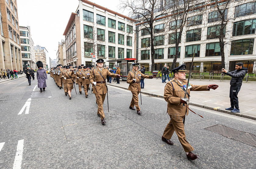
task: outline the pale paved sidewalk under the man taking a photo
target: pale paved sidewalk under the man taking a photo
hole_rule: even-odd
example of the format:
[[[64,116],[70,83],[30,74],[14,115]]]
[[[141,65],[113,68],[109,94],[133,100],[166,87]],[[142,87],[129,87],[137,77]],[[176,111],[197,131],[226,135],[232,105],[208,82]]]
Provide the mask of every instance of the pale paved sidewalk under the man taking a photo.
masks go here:
[[[167,79],[168,81],[168,79]],[[206,84],[218,84],[219,88],[216,90],[208,91],[192,91],[190,97],[190,104],[203,107],[210,110],[216,110],[223,113],[233,114],[240,117],[245,117],[249,119],[256,120],[256,82],[248,81],[247,83],[243,81],[240,92],[238,93],[239,108],[240,113],[231,113],[225,110],[225,108],[230,107],[229,99],[229,82],[230,80],[211,80],[204,79],[190,79],[190,83],[194,85],[206,85]],[[141,93],[163,97],[164,87],[166,83],[162,83],[162,79],[145,79],[144,89]],[[126,81],[120,80],[120,84],[114,82],[107,83],[111,86],[117,86],[124,89],[128,89],[129,84]]]

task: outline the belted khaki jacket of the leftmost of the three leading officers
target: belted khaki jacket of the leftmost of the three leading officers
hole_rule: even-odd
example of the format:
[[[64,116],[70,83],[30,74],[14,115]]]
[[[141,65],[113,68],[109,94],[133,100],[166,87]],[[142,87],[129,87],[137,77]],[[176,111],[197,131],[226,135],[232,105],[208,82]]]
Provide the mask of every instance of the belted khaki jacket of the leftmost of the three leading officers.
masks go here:
[[[91,72],[91,76],[90,76],[90,81],[91,81],[91,83],[92,83],[92,82],[105,81],[104,79],[106,79],[107,76],[116,77],[116,74],[110,73],[110,72],[108,71],[108,69],[106,69],[106,68],[102,68],[101,75],[104,77],[104,79],[103,79],[103,78],[101,77],[101,75],[98,73],[97,70],[98,70],[99,72],[101,72],[99,68],[93,69],[92,72]],[[106,86],[106,83],[103,83],[103,84],[97,83],[97,84],[96,84],[96,90],[93,90],[93,93],[94,93],[94,94],[106,94],[106,93],[107,93],[107,86]]]

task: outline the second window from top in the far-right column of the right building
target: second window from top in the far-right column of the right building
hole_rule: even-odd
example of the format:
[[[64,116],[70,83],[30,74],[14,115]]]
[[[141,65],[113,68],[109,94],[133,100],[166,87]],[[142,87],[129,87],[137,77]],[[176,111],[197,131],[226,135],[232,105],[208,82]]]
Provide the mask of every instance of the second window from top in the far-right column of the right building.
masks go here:
[[[233,25],[233,36],[254,34],[255,25],[256,19],[235,22]]]

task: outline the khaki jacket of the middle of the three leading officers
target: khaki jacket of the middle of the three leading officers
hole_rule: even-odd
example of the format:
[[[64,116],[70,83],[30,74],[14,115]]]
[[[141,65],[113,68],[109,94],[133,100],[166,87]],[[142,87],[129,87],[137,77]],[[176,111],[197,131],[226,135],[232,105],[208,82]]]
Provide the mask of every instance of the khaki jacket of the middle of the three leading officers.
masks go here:
[[[149,79],[148,75],[144,75],[140,71],[137,71],[136,75],[135,75],[136,83],[133,83],[134,71],[130,71],[128,73],[127,80],[126,80],[126,83],[130,84],[128,87],[128,90],[139,92],[141,90],[141,88],[140,88],[140,78],[141,77]]]

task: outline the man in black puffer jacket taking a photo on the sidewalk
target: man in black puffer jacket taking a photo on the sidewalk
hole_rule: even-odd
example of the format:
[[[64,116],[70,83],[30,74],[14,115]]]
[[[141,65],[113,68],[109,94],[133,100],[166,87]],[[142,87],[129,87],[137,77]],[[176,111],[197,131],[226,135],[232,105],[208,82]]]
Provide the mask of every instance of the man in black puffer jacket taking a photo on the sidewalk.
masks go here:
[[[232,77],[229,89],[231,107],[226,108],[226,110],[231,110],[232,113],[240,113],[237,94],[241,89],[242,82],[245,74],[248,72],[248,68],[244,67],[244,63],[239,62],[236,63],[236,70],[227,72],[226,69],[222,68],[222,72]]]

